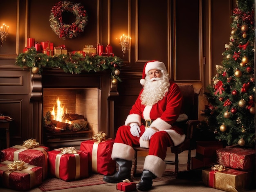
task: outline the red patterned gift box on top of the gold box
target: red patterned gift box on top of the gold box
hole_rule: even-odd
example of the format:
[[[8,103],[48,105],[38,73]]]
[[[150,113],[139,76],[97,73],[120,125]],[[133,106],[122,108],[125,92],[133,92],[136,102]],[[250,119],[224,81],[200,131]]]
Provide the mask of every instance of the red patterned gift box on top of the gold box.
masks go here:
[[[233,169],[249,171],[254,168],[255,150],[239,147],[216,150],[217,163]]]

